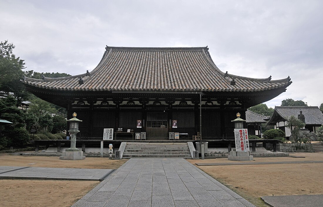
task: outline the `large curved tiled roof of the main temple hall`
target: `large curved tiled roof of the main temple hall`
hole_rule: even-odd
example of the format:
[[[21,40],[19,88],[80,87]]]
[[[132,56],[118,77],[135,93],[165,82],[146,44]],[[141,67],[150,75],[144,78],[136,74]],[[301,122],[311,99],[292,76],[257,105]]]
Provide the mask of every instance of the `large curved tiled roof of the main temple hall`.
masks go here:
[[[99,65],[89,73],[41,80],[25,77],[23,82],[54,90],[93,91],[262,91],[292,83],[289,77],[271,80],[224,73],[207,47],[108,46]]]

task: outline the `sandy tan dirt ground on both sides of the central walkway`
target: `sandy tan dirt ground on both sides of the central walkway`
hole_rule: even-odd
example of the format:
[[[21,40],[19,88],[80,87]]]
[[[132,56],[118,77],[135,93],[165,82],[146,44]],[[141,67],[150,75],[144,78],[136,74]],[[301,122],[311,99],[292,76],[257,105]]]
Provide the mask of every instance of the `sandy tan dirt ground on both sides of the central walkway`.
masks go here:
[[[305,158],[254,158],[251,162],[323,160],[323,153],[295,153]],[[86,158],[59,160],[58,157],[0,154],[0,166],[70,167],[117,169],[127,160]],[[188,160],[191,163],[236,162],[227,158]],[[250,161],[245,161],[250,162]],[[197,166],[258,207],[267,206],[261,196],[323,194],[323,163]],[[0,180],[0,206],[71,206],[98,181]],[[77,186],[77,189],[74,188]]]

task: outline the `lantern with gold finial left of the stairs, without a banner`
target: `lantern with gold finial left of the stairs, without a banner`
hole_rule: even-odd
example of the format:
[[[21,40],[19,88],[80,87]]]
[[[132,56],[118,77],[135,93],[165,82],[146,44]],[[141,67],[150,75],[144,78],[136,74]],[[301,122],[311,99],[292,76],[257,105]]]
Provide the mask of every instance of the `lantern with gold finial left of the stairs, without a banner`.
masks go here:
[[[71,135],[71,147],[66,149],[63,152],[63,156],[59,156],[60,160],[84,160],[85,156],[83,155],[83,151],[76,148],[76,134],[79,132],[78,124],[81,120],[76,118],[77,114],[73,113],[73,118],[67,120],[69,123],[68,132]]]

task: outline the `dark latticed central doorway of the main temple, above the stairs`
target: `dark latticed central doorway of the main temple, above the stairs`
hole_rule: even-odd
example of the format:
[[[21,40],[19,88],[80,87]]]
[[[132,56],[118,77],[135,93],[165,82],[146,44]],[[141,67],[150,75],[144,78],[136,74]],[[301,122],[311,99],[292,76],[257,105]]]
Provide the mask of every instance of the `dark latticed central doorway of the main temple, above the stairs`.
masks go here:
[[[167,135],[167,113],[147,113],[147,138],[166,138]]]

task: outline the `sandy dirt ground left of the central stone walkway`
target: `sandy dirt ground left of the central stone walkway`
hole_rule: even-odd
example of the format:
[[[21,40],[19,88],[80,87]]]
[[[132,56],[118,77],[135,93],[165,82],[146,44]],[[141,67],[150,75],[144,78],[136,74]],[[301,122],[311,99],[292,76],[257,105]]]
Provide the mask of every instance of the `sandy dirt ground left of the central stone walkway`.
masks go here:
[[[59,160],[59,157],[0,154],[0,166],[118,169],[127,160],[89,158]],[[0,179],[0,206],[69,207],[99,184],[99,181]]]

